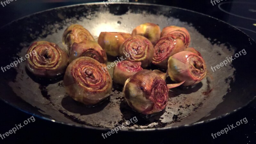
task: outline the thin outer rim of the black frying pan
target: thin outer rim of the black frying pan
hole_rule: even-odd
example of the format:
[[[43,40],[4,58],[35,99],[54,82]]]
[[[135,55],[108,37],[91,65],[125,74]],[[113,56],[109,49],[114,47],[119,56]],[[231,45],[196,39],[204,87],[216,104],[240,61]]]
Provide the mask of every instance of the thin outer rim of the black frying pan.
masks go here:
[[[55,9],[60,9],[60,8],[68,8],[68,7],[74,7],[74,6],[79,6],[79,5],[94,5],[94,4],[98,4],[98,5],[102,5],[104,4],[104,2],[94,2],[94,3],[81,3],[81,4],[73,4],[73,5],[66,5],[66,6],[61,6],[61,7],[56,7],[56,8],[52,8],[52,9],[48,9],[48,10],[44,10],[44,11],[40,11],[40,12],[36,12],[36,13],[33,13],[33,14],[30,14],[30,15],[27,15],[27,16],[24,16],[24,17],[21,17],[17,20],[13,20],[12,22],[4,25],[3,27],[0,28],[3,29],[4,27],[12,24],[13,22],[16,22],[16,21],[19,21],[19,20],[22,20],[24,18],[27,18],[27,17],[31,17],[33,15],[36,15],[36,14],[39,14],[39,13],[42,13],[42,12],[47,12],[47,11],[51,11],[51,10],[55,10]],[[150,6],[161,6],[161,7],[169,7],[169,8],[175,8],[175,9],[180,9],[180,10],[185,10],[185,11],[188,11],[188,12],[194,12],[194,13],[197,13],[197,14],[201,14],[201,15],[204,15],[204,16],[207,16],[207,17],[210,17],[210,18],[213,18],[215,20],[218,20],[218,21],[221,21],[233,28],[235,28],[236,30],[239,30],[240,32],[242,32],[243,34],[245,34],[243,31],[241,31],[240,29],[234,27],[233,25],[225,22],[225,21],[222,21],[222,20],[219,20],[217,18],[214,18],[212,16],[209,16],[209,15],[206,15],[206,14],[203,14],[203,13],[200,13],[200,12],[195,12],[195,11],[192,11],[192,10],[188,10],[188,9],[184,9],[184,8],[179,8],[179,7],[174,7],[174,6],[166,6],[166,5],[160,5],[160,4],[145,4],[145,3],[135,3],[135,2],[112,2],[111,4],[134,4],[134,5],[150,5]],[[247,37],[249,37],[254,43],[256,43],[250,36],[248,36],[247,34],[245,34]],[[47,118],[45,116],[40,116],[40,115],[37,115],[37,114],[33,114],[31,112],[28,112],[22,108],[19,108],[18,106],[16,105],[13,105],[12,103],[2,99],[0,97],[0,100],[4,101],[6,104],[24,112],[24,113],[27,113],[29,115],[32,115],[32,116],[36,116],[40,119],[43,119],[43,120],[47,120],[47,121],[51,121],[51,122],[54,122],[54,123],[57,123],[57,124],[65,124],[65,125],[68,125],[68,126],[75,126],[75,127],[78,127],[78,128],[87,128],[87,129],[93,129],[93,130],[101,130],[101,131],[109,131],[111,130],[111,128],[103,128],[103,127],[94,127],[94,126],[89,126],[89,125],[82,125],[82,124],[70,124],[70,123],[66,123],[66,122],[61,122],[61,121],[58,121],[58,120],[53,120],[51,118]],[[192,123],[192,124],[185,124],[185,125],[180,125],[180,126],[169,126],[169,127],[162,127],[162,128],[149,128],[149,129],[121,129],[120,131],[122,132],[152,132],[152,131],[164,131],[164,130],[175,130],[175,129],[178,129],[178,128],[187,128],[187,127],[192,127],[192,126],[196,126],[196,125],[201,125],[201,124],[207,124],[207,123],[210,123],[212,122],[213,120],[219,120],[220,118],[223,118],[223,117],[226,117],[228,115],[231,115],[231,114],[234,114],[236,111],[248,106],[253,100],[256,100],[256,96],[254,96],[252,98],[252,100],[250,100],[249,102],[247,102],[244,106],[242,107],[239,107],[229,113],[226,113],[226,114],[223,114],[223,115],[220,115],[220,116],[217,116],[217,117],[214,117],[214,118],[211,118],[211,119],[208,119],[208,120],[204,120],[204,121],[199,121],[199,122],[195,122],[195,123]],[[28,103],[29,104],[29,103]]]

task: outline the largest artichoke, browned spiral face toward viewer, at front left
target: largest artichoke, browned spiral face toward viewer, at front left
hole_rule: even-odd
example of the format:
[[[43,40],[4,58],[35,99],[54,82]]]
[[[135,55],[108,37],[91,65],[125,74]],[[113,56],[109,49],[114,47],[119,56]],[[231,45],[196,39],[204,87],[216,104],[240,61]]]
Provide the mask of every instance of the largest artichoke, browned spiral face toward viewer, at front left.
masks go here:
[[[63,81],[68,95],[85,105],[94,105],[107,98],[112,91],[112,79],[102,67],[106,65],[90,57],[72,61]]]

